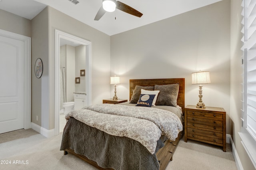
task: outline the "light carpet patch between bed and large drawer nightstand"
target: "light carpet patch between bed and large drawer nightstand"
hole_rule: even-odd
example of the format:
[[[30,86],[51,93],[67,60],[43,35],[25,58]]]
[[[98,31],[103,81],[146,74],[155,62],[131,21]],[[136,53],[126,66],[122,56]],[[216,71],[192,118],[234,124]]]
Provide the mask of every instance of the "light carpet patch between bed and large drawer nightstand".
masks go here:
[[[222,147],[183,139],[179,142],[166,170],[237,170],[232,149],[227,143]]]

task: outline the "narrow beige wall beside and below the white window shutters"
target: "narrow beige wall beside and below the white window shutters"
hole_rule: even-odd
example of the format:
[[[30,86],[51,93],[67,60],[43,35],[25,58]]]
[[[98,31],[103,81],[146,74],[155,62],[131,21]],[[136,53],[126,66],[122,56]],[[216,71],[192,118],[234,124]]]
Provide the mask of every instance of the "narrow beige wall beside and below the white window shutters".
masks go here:
[[[242,168],[244,170],[255,170],[248,154],[244,150],[241,143],[241,138],[238,132],[241,132],[241,74],[242,74],[242,59],[243,55],[241,39],[243,37],[242,30],[242,7],[241,1],[231,0],[231,40],[230,40],[230,121],[231,121],[231,136],[234,141],[236,151],[239,155]]]

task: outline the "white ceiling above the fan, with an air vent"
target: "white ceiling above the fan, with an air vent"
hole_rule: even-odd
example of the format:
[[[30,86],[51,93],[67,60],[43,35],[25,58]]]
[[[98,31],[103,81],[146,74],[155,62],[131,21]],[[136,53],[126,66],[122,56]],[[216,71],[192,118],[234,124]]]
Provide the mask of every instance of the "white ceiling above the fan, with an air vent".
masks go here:
[[[106,12],[99,21],[94,21],[102,0],[0,0],[0,9],[32,19],[46,6],[51,6],[108,35],[118,34],[165,18],[200,8],[221,0],[119,0],[140,11],[138,18],[120,10]],[[116,18],[116,19],[115,19]]]

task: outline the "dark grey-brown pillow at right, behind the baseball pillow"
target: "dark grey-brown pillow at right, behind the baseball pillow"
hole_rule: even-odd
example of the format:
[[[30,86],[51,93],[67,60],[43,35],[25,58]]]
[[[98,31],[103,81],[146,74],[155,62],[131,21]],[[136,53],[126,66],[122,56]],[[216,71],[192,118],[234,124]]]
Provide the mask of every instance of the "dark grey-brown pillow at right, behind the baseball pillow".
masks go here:
[[[160,90],[156,105],[160,106],[177,106],[177,98],[179,93],[179,84],[155,85],[154,90]]]

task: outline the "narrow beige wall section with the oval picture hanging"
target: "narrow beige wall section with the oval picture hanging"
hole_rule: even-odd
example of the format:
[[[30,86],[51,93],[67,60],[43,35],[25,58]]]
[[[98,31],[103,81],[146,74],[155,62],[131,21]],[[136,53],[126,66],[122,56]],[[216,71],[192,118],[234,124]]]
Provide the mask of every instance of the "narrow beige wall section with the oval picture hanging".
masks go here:
[[[48,8],[32,19],[32,58],[31,67],[37,58],[41,58],[43,63],[43,73],[41,78],[31,75],[31,122],[48,129],[49,127],[49,24]],[[33,73],[33,72],[32,72]],[[36,120],[38,116],[38,120]]]

